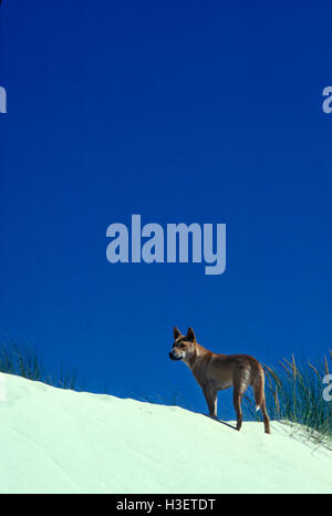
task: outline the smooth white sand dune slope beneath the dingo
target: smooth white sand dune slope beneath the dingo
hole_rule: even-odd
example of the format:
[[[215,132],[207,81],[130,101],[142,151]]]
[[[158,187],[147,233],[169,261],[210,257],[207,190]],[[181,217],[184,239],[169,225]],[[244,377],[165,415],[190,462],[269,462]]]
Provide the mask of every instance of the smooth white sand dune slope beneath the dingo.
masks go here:
[[[332,493],[332,452],[284,424],[3,380],[0,493]]]

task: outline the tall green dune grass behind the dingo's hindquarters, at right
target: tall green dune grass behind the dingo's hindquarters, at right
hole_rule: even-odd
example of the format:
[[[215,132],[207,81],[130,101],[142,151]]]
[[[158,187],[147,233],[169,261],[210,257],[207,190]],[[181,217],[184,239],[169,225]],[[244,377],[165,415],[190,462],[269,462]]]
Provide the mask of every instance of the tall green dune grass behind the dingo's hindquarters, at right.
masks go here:
[[[323,379],[332,372],[332,352],[322,360],[283,359],[276,367],[264,365],[267,409],[271,420],[284,421],[305,431],[318,443],[332,445],[332,402],[324,400]],[[246,396],[250,419],[261,419]]]

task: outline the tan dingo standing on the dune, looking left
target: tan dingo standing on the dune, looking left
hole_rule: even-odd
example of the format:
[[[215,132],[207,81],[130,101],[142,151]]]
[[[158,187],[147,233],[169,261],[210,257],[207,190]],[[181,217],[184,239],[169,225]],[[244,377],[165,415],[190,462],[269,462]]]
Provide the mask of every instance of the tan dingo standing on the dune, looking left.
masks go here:
[[[260,363],[249,354],[219,354],[198,344],[193,328],[183,336],[174,328],[174,344],[169,353],[172,360],[183,360],[203,389],[209,413],[217,417],[218,391],[234,386],[234,406],[237,413],[237,430],[242,424],[241,400],[249,385],[252,385],[256,410],[261,410],[266,433],[270,433],[270,420],[266,409],[264,372]]]

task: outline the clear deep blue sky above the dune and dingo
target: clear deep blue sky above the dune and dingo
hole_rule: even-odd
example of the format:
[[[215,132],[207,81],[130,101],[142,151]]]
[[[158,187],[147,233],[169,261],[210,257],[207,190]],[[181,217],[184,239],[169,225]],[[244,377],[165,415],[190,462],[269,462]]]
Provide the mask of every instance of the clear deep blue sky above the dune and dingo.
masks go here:
[[[1,331],[91,390],[178,389],[197,410],[174,324],[266,363],[326,352],[329,3],[4,0]],[[108,264],[132,214],[227,224],[226,272]]]

